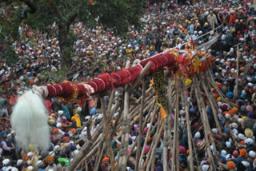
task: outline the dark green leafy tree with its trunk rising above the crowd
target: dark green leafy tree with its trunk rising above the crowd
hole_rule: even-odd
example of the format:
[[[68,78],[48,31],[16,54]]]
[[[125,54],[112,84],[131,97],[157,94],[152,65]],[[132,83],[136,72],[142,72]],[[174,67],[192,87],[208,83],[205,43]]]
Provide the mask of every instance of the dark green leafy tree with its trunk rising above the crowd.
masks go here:
[[[116,34],[125,34],[128,26],[140,26],[140,11],[145,3],[146,0],[3,0],[0,43],[7,45],[5,48],[10,52],[11,38],[17,40],[18,27],[22,23],[42,33],[50,33],[50,26],[55,22],[62,66],[68,67],[72,64],[71,51],[75,40],[70,30],[72,24],[102,25]]]

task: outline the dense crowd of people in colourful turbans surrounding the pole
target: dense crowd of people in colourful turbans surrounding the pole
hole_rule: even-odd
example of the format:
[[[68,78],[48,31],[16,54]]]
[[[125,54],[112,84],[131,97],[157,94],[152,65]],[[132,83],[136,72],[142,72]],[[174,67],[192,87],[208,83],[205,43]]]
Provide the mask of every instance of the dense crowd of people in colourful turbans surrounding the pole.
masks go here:
[[[103,30],[101,26],[96,26],[94,29],[89,29],[82,23],[72,26],[71,29],[78,40],[74,42],[75,57],[70,69],[70,73],[74,76],[70,81],[86,82],[99,74],[122,70],[127,59],[142,60],[170,48],[184,49],[184,42],[190,39],[194,40],[196,46],[200,46],[214,38],[214,35],[220,34],[218,41],[208,50],[216,57],[212,67],[214,80],[230,101],[234,103],[238,101],[238,107],[230,108],[218,93],[214,93],[219,107],[218,120],[223,132],[221,134],[218,133],[213,114],[207,106],[208,119],[217,148],[217,152],[214,152],[211,147],[215,157],[213,163],[206,156],[202,120],[198,113],[197,101],[191,97],[190,124],[199,161],[195,170],[199,170],[198,167],[202,171],[210,170],[213,165],[214,169],[218,170],[256,170],[254,137],[256,133],[254,124],[256,121],[256,15],[254,7],[243,4],[243,1],[194,2],[185,6],[176,6],[173,1],[164,1],[149,4],[141,20],[142,30],[130,26],[127,39],[119,38],[110,30]],[[56,26],[53,25],[52,30],[56,30]],[[54,81],[54,74],[50,79],[42,77],[46,70],[51,70],[52,73],[61,70],[57,36],[50,38],[47,34],[30,30],[28,26],[21,26],[19,34],[22,35],[22,39],[13,44],[18,54],[18,63],[6,66],[6,60],[0,59],[0,168],[3,171],[35,168],[46,171],[62,170],[70,164],[86,141],[86,127],[82,125],[92,120],[90,130],[93,133],[99,121],[102,120],[101,105],[97,97],[91,97],[82,107],[78,104],[63,105],[55,97],[46,99],[51,132],[49,153],[41,153],[32,145],[29,150],[19,149],[15,141],[15,132],[10,125],[12,107],[18,95],[32,85],[45,85],[51,80]],[[204,48],[202,47],[201,50]],[[239,70],[236,68],[237,56],[239,56]],[[237,72],[238,87],[235,86]],[[236,88],[238,96],[234,96]],[[134,97],[140,97],[141,90],[135,91]],[[179,113],[180,169],[189,170],[189,162],[195,161],[190,161],[188,158],[187,131],[182,126],[185,112],[180,109]],[[136,138],[138,129],[138,122],[135,122],[130,137]],[[142,141],[146,141],[145,136],[145,134],[142,135]],[[130,138],[130,144],[134,143],[135,138]],[[120,141],[115,138],[111,141],[116,161]],[[150,143],[148,139],[145,156],[150,149]],[[155,156],[154,170],[156,171],[163,170],[162,152],[163,136]],[[90,170],[93,170],[94,162],[95,159],[92,158]],[[100,170],[110,170],[109,164],[109,156],[102,157]],[[83,168],[77,170],[83,170]],[[134,170],[134,168],[130,166],[127,170]]]

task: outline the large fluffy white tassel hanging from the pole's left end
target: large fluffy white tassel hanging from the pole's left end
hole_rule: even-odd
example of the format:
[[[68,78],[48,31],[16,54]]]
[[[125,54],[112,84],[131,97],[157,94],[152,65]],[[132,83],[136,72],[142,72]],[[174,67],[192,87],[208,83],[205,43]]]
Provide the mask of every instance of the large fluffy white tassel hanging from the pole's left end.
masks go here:
[[[26,91],[14,105],[10,123],[17,135],[18,147],[47,151],[50,147],[50,129],[47,123],[46,105],[39,93]]]

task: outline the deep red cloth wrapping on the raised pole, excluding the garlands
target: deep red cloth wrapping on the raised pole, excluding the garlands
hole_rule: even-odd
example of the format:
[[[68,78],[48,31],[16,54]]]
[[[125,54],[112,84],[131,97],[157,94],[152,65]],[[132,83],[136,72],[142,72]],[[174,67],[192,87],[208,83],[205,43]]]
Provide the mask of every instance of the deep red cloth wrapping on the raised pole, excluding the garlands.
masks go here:
[[[153,66],[151,66],[146,75],[153,74],[156,70],[164,66],[173,66],[175,64],[175,56],[174,54],[160,54],[157,57],[140,62],[141,66],[133,66],[127,70],[115,72],[114,74],[102,74],[86,84],[91,85],[94,88],[94,94],[112,89],[113,87],[117,88],[129,84],[138,78],[138,75],[142,71],[142,67],[145,67],[148,62],[152,62]],[[82,84],[78,84],[77,87],[78,97],[82,97],[86,93],[86,89]],[[70,97],[73,93],[72,86],[68,82],[63,82],[57,85],[47,85],[47,89],[49,91],[48,97]]]

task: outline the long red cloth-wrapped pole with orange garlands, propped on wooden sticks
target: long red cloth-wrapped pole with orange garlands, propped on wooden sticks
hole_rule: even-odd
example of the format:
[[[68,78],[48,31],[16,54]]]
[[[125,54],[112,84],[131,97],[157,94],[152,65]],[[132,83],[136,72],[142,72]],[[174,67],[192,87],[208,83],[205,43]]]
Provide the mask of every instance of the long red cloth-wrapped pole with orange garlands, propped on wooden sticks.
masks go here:
[[[190,51],[188,51],[188,54]],[[102,91],[118,88],[126,84],[132,83],[138,78],[143,67],[146,66],[148,62],[152,62],[152,66],[146,75],[153,74],[156,70],[167,66],[169,69],[174,67],[180,68],[179,70],[184,70],[184,74],[193,75],[194,71],[200,71],[203,73],[208,70],[211,66],[211,59],[202,62],[201,65],[196,65],[190,57],[185,57],[184,53],[179,54],[176,52],[170,52],[168,54],[159,54],[154,58],[148,58],[140,62],[137,66],[130,67],[126,70],[119,70],[113,74],[101,74],[98,78],[94,78],[86,83],[79,83],[75,85],[73,82],[62,82],[54,85],[46,85],[39,87],[42,89],[43,97],[61,97],[62,102],[72,103],[76,99],[82,99],[90,97],[96,93],[101,93]],[[202,54],[202,53],[201,53]],[[197,60],[199,60],[197,58]],[[188,69],[189,68],[189,69]]]

